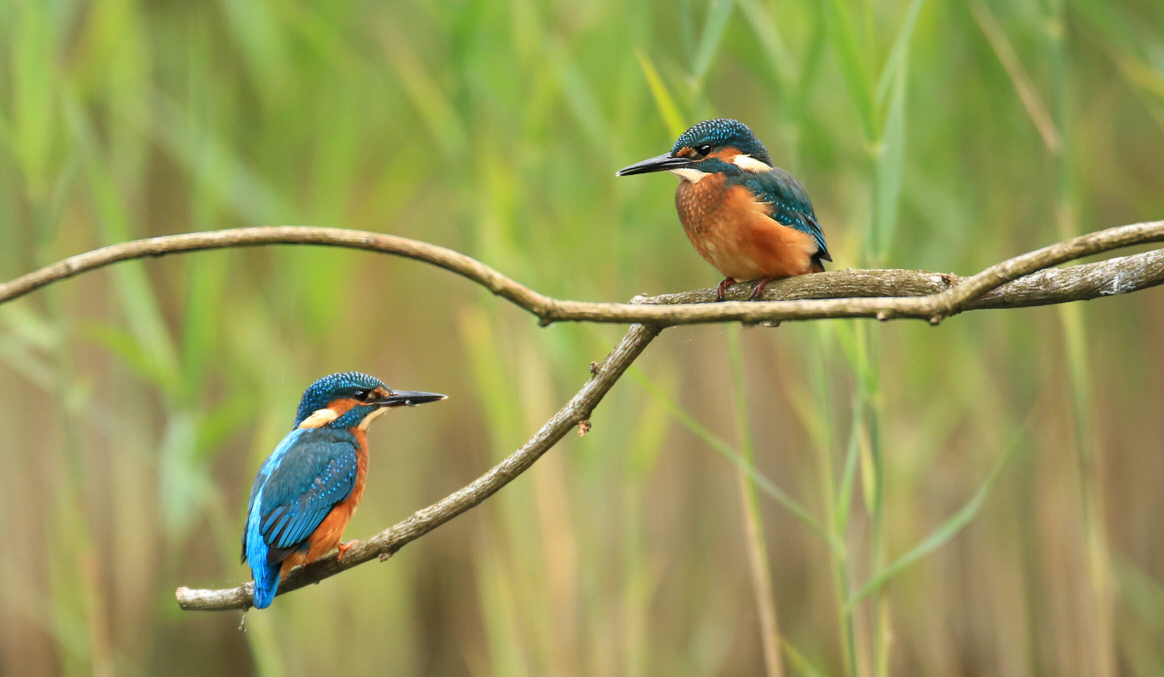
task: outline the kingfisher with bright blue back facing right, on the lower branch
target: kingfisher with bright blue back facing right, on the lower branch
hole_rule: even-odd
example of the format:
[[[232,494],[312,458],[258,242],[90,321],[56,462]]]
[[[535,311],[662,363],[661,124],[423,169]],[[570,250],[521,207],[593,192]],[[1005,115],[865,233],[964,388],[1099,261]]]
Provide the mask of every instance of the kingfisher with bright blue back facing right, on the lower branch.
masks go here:
[[[242,562],[250,563],[257,608],[267,608],[279,580],[333,549],[338,558],[357,541],[341,543],[363,497],[368,427],[402,406],[445,399],[433,392],[396,391],[376,377],[349,371],[307,386],[291,432],[267,457],[250,487]]]

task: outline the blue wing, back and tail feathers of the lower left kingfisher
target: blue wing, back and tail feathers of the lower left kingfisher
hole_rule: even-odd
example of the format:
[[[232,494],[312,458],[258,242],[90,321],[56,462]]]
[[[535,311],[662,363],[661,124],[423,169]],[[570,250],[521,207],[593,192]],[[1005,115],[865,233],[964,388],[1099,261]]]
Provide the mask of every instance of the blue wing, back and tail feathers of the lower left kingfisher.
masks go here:
[[[255,606],[278,590],[279,563],[306,541],[355,487],[356,440],[346,430],[296,429],[268,456],[250,491],[242,556],[255,578]]]

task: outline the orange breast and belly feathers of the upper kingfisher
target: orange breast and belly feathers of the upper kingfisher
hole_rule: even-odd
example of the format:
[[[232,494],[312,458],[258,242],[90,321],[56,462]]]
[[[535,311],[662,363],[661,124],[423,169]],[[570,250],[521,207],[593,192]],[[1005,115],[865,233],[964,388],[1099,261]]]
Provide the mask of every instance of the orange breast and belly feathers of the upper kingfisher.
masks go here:
[[[744,186],[728,186],[723,174],[682,180],[675,208],[695,250],[724,277],[737,280],[811,272],[816,242],[808,233],[768,216]]]

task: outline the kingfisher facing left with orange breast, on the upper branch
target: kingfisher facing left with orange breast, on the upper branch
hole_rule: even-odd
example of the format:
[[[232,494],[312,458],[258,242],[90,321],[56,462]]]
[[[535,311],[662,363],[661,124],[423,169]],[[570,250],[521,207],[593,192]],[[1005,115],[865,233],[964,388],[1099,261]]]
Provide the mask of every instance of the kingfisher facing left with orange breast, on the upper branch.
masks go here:
[[[687,237],[728,285],[755,280],[751,300],[781,277],[823,272],[832,261],[808,191],[773,166],[768,149],[738,120],[704,120],[670,152],[618,171],[627,177],[669,171],[680,178],[675,208]]]

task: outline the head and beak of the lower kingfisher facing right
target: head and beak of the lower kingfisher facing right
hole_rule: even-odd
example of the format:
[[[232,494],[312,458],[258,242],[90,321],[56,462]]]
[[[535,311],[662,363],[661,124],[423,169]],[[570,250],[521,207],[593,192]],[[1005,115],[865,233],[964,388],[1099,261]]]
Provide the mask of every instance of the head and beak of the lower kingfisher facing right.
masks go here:
[[[411,407],[446,397],[434,392],[392,390],[381,379],[357,371],[333,373],[303,391],[292,428],[328,426],[367,430],[376,416],[392,407]]]

